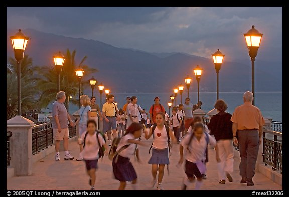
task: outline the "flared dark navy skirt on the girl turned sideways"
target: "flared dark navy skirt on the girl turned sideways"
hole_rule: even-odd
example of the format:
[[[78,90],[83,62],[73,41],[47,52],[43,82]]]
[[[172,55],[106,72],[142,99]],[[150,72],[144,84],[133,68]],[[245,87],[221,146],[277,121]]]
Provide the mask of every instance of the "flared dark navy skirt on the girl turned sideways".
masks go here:
[[[132,181],[137,178],[136,172],[127,157],[118,156],[117,162],[115,163],[116,156],[112,160],[113,174],[116,180],[121,182]]]

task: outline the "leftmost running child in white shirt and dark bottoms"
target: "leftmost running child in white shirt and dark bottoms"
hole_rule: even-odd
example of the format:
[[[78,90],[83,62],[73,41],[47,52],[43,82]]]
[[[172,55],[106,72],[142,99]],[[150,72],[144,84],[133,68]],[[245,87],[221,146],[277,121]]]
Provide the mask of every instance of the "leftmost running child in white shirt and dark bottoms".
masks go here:
[[[87,121],[87,134],[85,137],[85,132],[81,135],[81,140],[78,141],[79,144],[84,144],[85,146],[81,152],[83,156],[83,160],[86,165],[86,172],[89,176],[89,184],[91,186],[91,190],[94,190],[95,178],[96,178],[96,169],[98,162],[98,151],[99,144],[100,146],[105,147],[104,154],[108,155],[108,146],[106,145],[101,134],[96,136],[96,122],[94,119],[89,119]],[[84,141],[85,138],[85,141]]]

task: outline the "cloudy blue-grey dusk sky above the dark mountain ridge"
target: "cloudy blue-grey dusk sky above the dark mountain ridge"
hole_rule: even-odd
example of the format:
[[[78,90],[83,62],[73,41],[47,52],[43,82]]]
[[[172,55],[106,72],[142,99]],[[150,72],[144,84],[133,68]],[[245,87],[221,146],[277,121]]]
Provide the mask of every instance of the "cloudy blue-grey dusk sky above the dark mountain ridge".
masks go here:
[[[282,61],[282,7],[7,7],[15,33],[31,28],[207,58],[219,48],[227,61],[249,59],[243,33],[252,25],[264,34],[256,60]]]

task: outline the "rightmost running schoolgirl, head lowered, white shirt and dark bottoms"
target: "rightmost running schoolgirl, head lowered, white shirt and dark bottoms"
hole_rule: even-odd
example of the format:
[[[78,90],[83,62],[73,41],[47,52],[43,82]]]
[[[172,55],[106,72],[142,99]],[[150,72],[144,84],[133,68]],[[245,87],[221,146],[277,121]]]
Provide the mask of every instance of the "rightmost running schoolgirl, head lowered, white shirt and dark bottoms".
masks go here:
[[[205,153],[208,143],[216,146],[214,136],[205,132],[203,123],[195,122],[193,132],[188,132],[180,143],[180,160],[179,165],[184,161],[183,153],[186,150],[185,158],[185,173],[186,177],[183,179],[182,190],[186,190],[187,186],[194,182],[197,177],[195,190],[200,190],[203,184],[203,174],[206,172]]]

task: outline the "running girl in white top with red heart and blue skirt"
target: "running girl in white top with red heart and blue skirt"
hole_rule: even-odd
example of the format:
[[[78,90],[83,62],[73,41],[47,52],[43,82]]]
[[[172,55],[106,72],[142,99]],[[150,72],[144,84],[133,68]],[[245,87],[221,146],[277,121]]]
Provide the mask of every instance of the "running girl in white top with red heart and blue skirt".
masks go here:
[[[149,132],[145,132],[145,138],[149,139],[152,135],[154,138],[152,145],[152,157],[149,160],[149,164],[152,164],[152,176],[153,180],[150,183],[150,187],[154,187],[156,183],[156,176],[158,174],[158,184],[157,189],[163,190],[162,180],[164,177],[165,165],[169,164],[169,140],[171,138],[173,143],[177,143],[177,139],[174,135],[174,132],[168,127],[165,126],[165,114],[159,112],[156,115],[156,126],[152,126]],[[155,128],[153,132],[153,127]],[[149,130],[148,128],[146,130]],[[168,133],[167,133],[168,131]],[[169,135],[169,136],[168,136]]]

